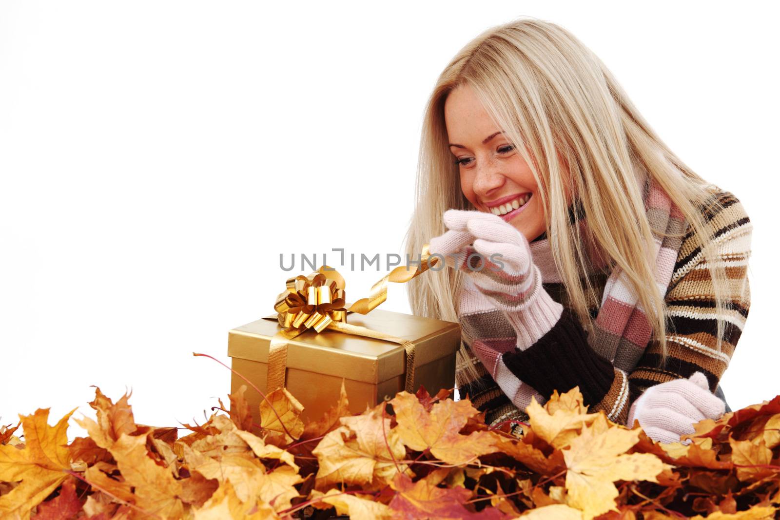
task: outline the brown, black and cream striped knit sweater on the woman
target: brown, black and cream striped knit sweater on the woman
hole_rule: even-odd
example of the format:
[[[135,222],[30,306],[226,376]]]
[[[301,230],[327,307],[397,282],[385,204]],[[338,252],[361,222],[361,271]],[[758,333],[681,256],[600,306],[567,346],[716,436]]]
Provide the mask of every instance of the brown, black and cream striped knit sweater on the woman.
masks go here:
[[[591,411],[604,410],[609,413],[619,408],[621,412],[615,419],[619,423],[626,423],[629,406],[642,392],[655,384],[687,378],[701,371],[707,376],[711,391],[714,391],[729,365],[750,310],[747,264],[752,234],[752,224],[742,203],[724,190],[718,190],[717,196],[724,209],[714,213],[703,210],[703,213],[707,218],[708,232],[719,244],[719,257],[725,263],[726,274],[731,282],[720,352],[715,350],[718,325],[714,317],[711,277],[700,251],[701,241],[693,228],[689,227],[679,248],[672,281],[665,293],[668,306],[668,358],[665,364],[661,364],[660,348],[651,341],[629,372],[627,380],[619,375],[612,363],[598,356],[588,346],[587,332],[569,306],[566,290],[557,281],[560,278],[557,277],[551,258],[534,257],[534,263],[542,273],[542,286],[552,299],[564,306],[564,312],[547,334],[527,350],[519,352],[518,363],[510,369],[545,398],[555,390],[564,392],[579,386],[585,404],[590,406]],[[572,218],[575,218],[573,214]],[[543,238],[544,235],[534,242]],[[532,249],[534,242],[531,242]],[[545,281],[549,279],[556,281]],[[590,283],[597,288],[597,294],[603,292],[607,279],[608,273],[590,274]],[[600,305],[600,301],[590,302],[592,317],[596,317]],[[465,327],[463,317],[460,321]],[[512,419],[526,420],[525,412],[513,405],[502,392],[480,359],[474,355],[468,341],[464,334],[463,347],[477,367],[480,377],[470,380],[463,364],[457,366],[459,398],[470,398],[477,409],[485,412],[485,422],[491,425]],[[629,385],[628,401],[616,403],[620,395],[626,395],[625,384]],[[516,426],[513,432],[519,432]]]

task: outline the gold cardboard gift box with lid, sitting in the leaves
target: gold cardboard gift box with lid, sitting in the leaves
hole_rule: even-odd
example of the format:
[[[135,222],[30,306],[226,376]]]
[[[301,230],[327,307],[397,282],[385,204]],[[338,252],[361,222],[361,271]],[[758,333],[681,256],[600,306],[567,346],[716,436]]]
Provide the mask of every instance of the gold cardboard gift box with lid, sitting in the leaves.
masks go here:
[[[414,390],[424,385],[431,394],[455,385],[455,358],[460,346],[460,326],[449,321],[372,310],[349,313],[347,323],[414,341]],[[266,391],[268,347],[282,331],[277,315],[236,327],[228,334],[232,368]],[[305,407],[304,421],[320,419],[339,399],[342,377],[352,413],[380,403],[404,390],[406,357],[402,345],[325,329],[307,330],[289,341],[285,387]],[[232,374],[231,391],[246,384]],[[254,422],[259,423],[261,395],[247,386]]]

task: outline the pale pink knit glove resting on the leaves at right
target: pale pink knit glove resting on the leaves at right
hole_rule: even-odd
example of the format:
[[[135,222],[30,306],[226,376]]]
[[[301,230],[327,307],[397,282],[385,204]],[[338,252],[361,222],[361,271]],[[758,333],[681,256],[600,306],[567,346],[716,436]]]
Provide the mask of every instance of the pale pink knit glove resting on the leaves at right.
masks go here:
[[[629,410],[629,428],[634,419],[648,437],[658,442],[679,442],[680,437],[693,433],[693,425],[703,419],[718,419],[725,412],[725,403],[714,395],[704,373],[696,372],[689,379],[677,379],[647,388]],[[690,441],[686,441],[687,444]]]

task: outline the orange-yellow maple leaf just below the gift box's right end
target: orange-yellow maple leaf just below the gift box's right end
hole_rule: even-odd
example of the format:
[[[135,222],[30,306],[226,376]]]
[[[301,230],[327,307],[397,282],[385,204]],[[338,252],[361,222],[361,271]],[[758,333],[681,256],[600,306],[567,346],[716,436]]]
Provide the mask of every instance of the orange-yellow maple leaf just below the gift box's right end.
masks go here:
[[[470,401],[438,401],[427,412],[417,395],[401,391],[390,401],[403,444],[416,451],[430,450],[443,462],[463,465],[480,455],[498,451],[495,445],[501,440],[497,433],[475,431],[468,435],[459,433],[468,420],[479,411]]]

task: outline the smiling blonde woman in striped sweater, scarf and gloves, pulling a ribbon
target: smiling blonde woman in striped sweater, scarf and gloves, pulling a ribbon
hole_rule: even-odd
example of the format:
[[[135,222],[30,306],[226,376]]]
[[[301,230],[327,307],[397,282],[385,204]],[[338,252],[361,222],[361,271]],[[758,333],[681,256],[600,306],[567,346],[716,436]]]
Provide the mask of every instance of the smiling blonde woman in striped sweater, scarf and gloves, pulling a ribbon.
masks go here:
[[[461,324],[456,385],[487,423],[517,434],[532,396],[576,386],[663,442],[722,416],[750,219],[591,51],[537,19],[485,31],[441,73],[421,142],[407,251],[430,242],[452,268],[410,302]]]

